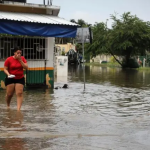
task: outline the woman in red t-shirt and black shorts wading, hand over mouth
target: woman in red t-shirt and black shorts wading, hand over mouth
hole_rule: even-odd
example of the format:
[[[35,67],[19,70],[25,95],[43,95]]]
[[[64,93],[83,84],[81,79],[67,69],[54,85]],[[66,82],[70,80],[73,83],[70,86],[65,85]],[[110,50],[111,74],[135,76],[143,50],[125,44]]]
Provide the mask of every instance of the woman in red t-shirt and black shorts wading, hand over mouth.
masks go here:
[[[16,47],[14,48],[14,55],[8,57],[4,63],[4,72],[7,75],[5,78],[7,107],[9,108],[11,98],[15,92],[17,96],[17,110],[21,109],[23,101],[23,87],[25,84],[23,69],[28,69],[27,61],[21,55],[21,48]]]

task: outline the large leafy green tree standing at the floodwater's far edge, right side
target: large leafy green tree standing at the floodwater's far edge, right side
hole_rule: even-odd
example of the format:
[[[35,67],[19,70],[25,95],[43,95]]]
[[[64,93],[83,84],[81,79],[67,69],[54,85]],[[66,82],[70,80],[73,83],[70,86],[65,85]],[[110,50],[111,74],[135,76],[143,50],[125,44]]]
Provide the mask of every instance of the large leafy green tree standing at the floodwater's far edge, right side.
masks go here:
[[[123,56],[123,62],[117,60],[122,67],[135,67],[131,59],[138,55],[144,55],[150,46],[150,24],[144,22],[130,12],[124,13],[120,19],[111,15],[112,29],[108,29],[107,23],[96,23],[93,26],[93,44],[88,52],[92,56],[101,53]],[[137,67],[137,66],[136,66]]]

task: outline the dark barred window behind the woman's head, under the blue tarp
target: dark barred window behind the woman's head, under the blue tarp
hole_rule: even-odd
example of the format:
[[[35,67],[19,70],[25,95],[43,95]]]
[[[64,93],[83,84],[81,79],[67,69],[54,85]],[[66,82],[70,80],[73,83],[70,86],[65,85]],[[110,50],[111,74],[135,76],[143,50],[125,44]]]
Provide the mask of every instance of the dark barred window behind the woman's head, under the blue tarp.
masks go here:
[[[20,46],[27,60],[47,60],[47,38],[45,37],[0,37],[0,60],[13,55],[13,49]]]

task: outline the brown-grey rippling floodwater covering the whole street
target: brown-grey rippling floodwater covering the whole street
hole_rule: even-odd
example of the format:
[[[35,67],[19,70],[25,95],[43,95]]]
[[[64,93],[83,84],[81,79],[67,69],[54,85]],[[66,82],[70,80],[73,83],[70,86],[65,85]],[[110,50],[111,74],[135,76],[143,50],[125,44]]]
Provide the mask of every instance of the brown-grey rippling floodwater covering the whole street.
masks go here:
[[[149,150],[150,71],[85,74],[85,91],[82,66],[69,67],[68,89],[25,91],[21,112],[0,91],[0,150]]]

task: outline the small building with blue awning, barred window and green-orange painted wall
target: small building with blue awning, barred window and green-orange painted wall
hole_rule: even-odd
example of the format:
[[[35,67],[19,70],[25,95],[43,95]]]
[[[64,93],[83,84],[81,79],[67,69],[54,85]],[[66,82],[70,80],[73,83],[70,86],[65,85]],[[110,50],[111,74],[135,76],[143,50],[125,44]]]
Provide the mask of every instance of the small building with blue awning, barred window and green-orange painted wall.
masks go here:
[[[75,37],[78,27],[58,17],[59,11],[52,5],[0,3],[0,89],[5,89],[4,61],[15,46],[28,61],[26,86],[54,87],[55,37]]]

